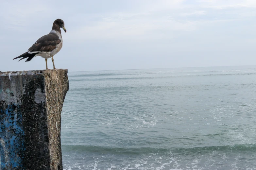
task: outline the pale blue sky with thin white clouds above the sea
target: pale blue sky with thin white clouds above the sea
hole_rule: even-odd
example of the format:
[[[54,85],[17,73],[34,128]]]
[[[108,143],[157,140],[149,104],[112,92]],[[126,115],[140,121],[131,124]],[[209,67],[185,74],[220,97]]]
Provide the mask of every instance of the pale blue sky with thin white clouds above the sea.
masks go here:
[[[58,18],[67,33],[54,56],[56,68],[256,65],[255,0],[1,0],[0,71],[45,69],[40,56],[12,59]]]

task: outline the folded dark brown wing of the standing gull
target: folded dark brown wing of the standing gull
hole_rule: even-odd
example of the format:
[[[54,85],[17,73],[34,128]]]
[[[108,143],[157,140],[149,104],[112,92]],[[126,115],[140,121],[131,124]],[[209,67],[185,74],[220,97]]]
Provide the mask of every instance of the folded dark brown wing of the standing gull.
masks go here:
[[[27,52],[29,54],[32,53],[45,53],[50,52],[56,48],[58,44],[60,44],[61,38],[56,34],[47,34],[39,38],[35,44],[30,47]]]

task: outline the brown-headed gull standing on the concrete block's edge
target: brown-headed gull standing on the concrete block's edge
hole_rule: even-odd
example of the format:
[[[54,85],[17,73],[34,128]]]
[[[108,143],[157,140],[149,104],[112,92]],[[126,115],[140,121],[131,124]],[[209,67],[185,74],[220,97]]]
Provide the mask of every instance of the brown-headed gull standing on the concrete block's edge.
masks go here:
[[[52,30],[50,31],[49,34],[44,35],[41,38],[39,38],[27,50],[27,52],[21,54],[20,56],[14,58],[14,59],[21,58],[20,60],[23,60],[23,59],[27,58],[26,62],[29,62],[34,57],[41,56],[41,57],[45,58],[46,69],[48,69],[47,59],[52,58],[53,69],[56,69],[55,65],[54,65],[53,56],[60,51],[60,49],[62,48],[62,44],[63,44],[60,28],[62,28],[65,31],[65,33],[67,32],[67,30],[65,28],[64,21],[61,19],[57,19],[53,22]]]

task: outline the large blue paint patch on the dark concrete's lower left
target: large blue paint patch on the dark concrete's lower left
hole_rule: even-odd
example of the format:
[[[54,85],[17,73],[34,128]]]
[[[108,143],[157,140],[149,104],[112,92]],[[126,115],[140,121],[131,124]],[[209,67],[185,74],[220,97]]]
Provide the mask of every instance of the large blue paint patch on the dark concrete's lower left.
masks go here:
[[[8,105],[0,109],[0,156],[1,168],[20,168],[21,151],[24,149],[24,131],[19,106]],[[0,168],[0,169],[1,169]]]

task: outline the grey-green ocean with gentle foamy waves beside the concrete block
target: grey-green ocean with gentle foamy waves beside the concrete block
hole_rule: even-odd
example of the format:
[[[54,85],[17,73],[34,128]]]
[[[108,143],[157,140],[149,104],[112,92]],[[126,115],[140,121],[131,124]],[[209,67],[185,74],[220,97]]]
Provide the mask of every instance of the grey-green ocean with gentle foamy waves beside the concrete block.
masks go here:
[[[256,169],[256,66],[68,76],[64,170]]]

